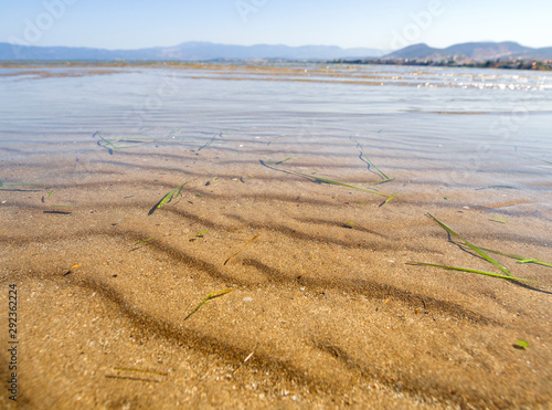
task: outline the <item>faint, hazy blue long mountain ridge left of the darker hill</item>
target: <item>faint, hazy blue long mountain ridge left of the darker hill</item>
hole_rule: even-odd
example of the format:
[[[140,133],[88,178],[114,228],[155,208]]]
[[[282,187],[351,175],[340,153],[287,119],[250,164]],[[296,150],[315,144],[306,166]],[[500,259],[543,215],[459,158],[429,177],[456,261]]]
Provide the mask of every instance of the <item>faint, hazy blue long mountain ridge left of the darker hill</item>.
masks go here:
[[[205,60],[331,60],[342,57],[378,57],[386,54],[378,49],[341,49],[335,45],[230,45],[185,42],[169,48],[105,50],[66,46],[33,46],[0,43],[0,60],[135,60],[135,61],[205,61]]]

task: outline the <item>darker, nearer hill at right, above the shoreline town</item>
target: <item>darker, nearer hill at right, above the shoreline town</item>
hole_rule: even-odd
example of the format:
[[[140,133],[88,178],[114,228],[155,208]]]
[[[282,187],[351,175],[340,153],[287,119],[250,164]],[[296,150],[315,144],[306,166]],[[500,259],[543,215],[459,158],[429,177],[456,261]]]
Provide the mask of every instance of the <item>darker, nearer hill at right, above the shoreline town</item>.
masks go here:
[[[501,43],[463,43],[446,49],[434,49],[427,44],[414,44],[383,56],[383,59],[433,61],[454,57],[465,57],[476,62],[497,59],[552,60],[552,48],[532,49],[510,41]]]

